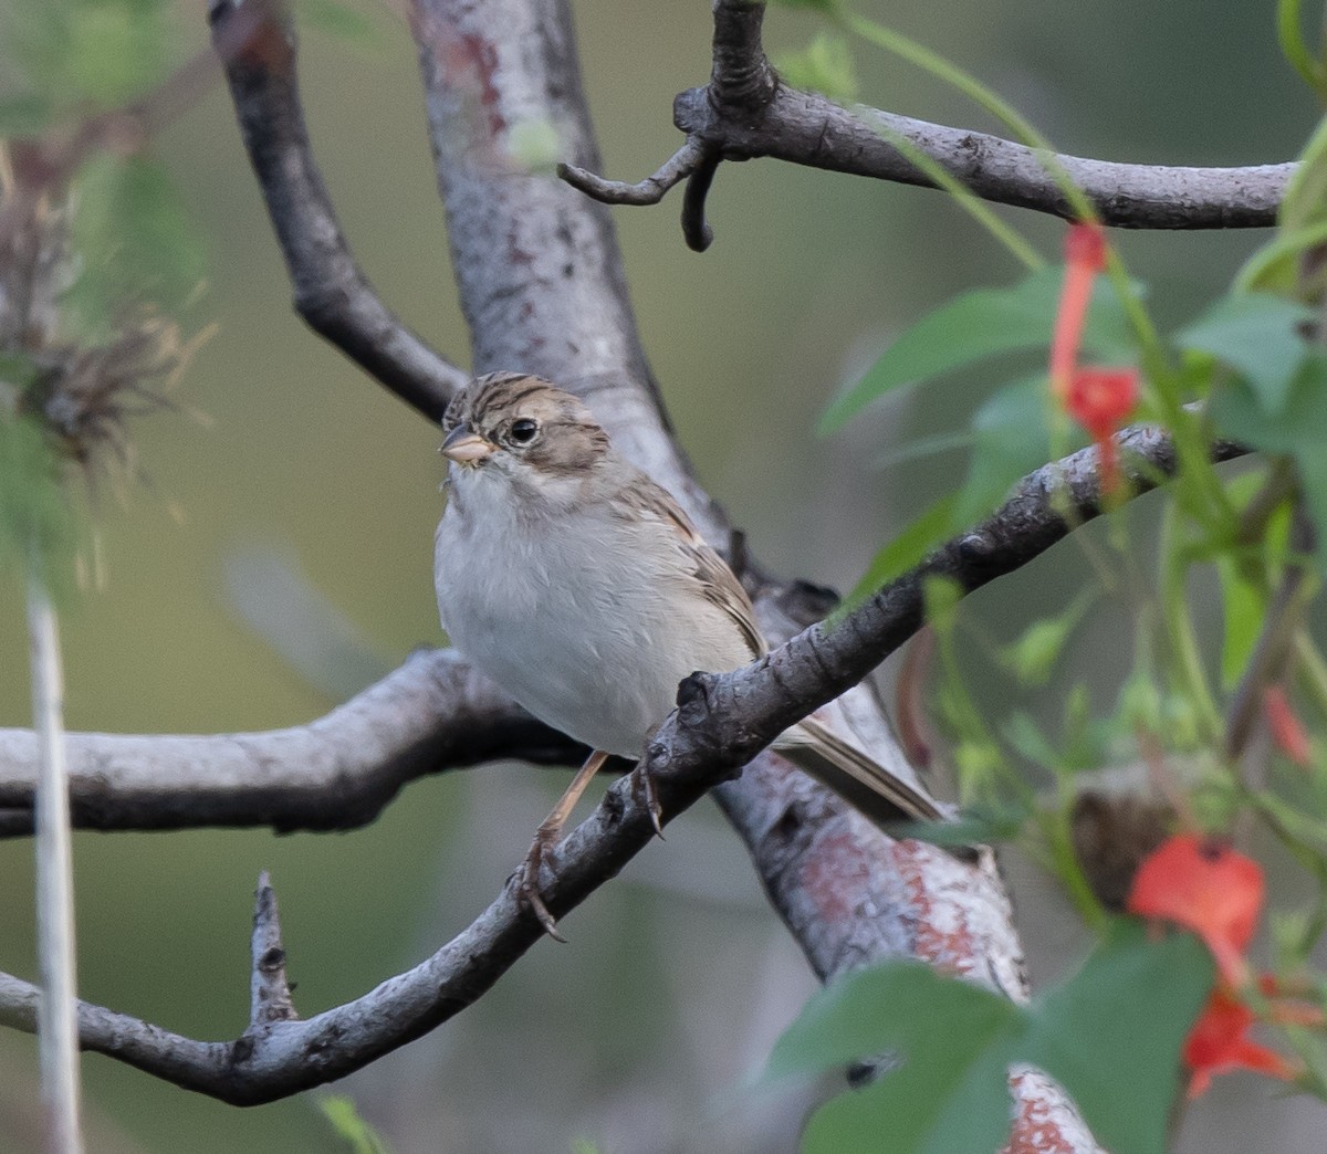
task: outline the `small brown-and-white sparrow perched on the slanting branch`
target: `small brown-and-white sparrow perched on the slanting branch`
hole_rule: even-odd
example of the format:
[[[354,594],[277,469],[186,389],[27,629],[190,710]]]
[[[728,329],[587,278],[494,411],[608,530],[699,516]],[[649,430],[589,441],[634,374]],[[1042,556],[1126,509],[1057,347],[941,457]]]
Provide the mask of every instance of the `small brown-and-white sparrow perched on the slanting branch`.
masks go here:
[[[577,397],[491,373],[447,406],[434,577],[451,643],[541,722],[594,752],[536,832],[519,895],[543,927],[540,864],[609,755],[640,759],[695,671],[767,651],[751,601],[677,501]],[[807,718],[775,749],[876,821],[938,820],[924,793]],[[657,804],[652,816],[658,828]]]

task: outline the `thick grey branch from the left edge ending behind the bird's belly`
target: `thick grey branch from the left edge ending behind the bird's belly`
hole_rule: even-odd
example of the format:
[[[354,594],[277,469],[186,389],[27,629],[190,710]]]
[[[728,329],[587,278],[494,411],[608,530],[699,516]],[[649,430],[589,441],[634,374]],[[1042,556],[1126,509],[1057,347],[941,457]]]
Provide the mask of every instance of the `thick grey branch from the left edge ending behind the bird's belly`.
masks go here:
[[[350,829],[425,773],[495,757],[567,764],[581,756],[451,650],[421,651],[308,726],[214,736],[70,734],[70,806],[80,829]],[[0,834],[32,830],[35,779],[32,732],[0,730]]]

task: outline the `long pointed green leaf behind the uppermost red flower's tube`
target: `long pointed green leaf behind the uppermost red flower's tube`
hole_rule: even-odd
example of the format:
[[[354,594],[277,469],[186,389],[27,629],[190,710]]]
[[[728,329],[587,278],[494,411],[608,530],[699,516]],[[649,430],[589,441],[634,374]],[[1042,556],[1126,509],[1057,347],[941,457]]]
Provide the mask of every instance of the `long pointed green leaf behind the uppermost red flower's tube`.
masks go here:
[[[990,357],[1048,349],[1059,306],[1063,265],[1048,265],[1009,288],[974,289],[928,313],[905,329],[836,399],[820,420],[820,432],[841,428],[886,393]],[[1109,361],[1132,361],[1132,330],[1104,277],[1097,279],[1083,332],[1083,348]]]

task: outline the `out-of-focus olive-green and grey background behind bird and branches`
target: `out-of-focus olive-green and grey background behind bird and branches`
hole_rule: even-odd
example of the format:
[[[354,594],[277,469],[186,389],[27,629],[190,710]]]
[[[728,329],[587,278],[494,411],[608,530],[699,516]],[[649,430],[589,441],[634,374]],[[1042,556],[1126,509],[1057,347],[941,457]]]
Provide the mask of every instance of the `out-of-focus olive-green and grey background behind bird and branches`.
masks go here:
[[[993,85],[1068,153],[1249,164],[1290,159],[1315,110],[1281,61],[1274,4],[1249,0],[894,0],[877,19]],[[671,99],[709,74],[703,0],[577,0],[587,90],[608,175],[636,180],[679,143]],[[382,297],[459,363],[467,336],[447,264],[415,56],[382,4],[352,41],[316,28],[300,77],[316,155],[346,236]],[[180,5],[179,58],[206,42]],[[772,9],[771,48],[816,31]],[[642,46],[648,50],[642,52]],[[857,52],[861,98],[993,130],[918,73]],[[439,639],[431,581],[438,434],[313,338],[289,288],[230,103],[218,85],[159,143],[211,247],[191,325],[218,322],[180,399],[208,418],[133,428],[149,484],[104,495],[107,574],[65,617],[72,728],[219,732],[307,722]],[[703,483],[776,572],[851,586],[959,456],[890,455],[961,427],[991,383],[954,379],[878,407],[831,442],[813,424],[890,336],[954,293],[1019,271],[942,196],[780,166],[727,164],[698,256],[679,194],[614,212],[637,316],[682,443]],[[1058,249],[1060,227],[1010,219]],[[1174,324],[1221,290],[1255,233],[1124,235],[1132,271]],[[722,324],[715,320],[722,317]],[[1079,546],[974,597],[978,694],[990,650],[1067,604]],[[12,588],[12,586],[11,586]],[[1034,596],[1035,594],[1035,596]],[[0,724],[23,726],[23,614],[3,594]],[[309,609],[288,610],[289,598]],[[316,611],[314,611],[316,610]],[[1108,610],[1064,676],[1109,674]],[[886,670],[884,674],[889,676]],[[991,679],[994,682],[994,679]],[[1113,690],[1112,690],[1113,691]],[[76,838],[81,994],[170,1029],[230,1039],[245,1023],[248,926],[273,873],[296,1005],[311,1015],[431,952],[496,893],[561,773],[487,768],[411,785],[370,828]],[[32,978],[32,846],[0,844],[0,968]],[[1076,956],[1074,919],[1010,862],[1034,978]],[[626,877],[565,922],[454,1021],[338,1088],[407,1151],[779,1151],[807,1097],[739,1089],[813,982],[767,910],[742,849],[699,806]],[[29,1039],[0,1033],[0,1151],[36,1149]],[[316,1094],[238,1110],[105,1058],[85,1058],[97,1151],[342,1149]],[[1312,1104],[1225,1080],[1190,1112],[1181,1149],[1320,1149]]]

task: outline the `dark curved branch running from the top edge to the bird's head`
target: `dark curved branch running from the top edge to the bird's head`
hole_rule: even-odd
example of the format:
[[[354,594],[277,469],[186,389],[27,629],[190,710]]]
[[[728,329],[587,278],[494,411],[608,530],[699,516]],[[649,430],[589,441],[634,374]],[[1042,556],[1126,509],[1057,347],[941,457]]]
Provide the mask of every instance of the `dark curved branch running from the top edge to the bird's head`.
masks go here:
[[[350,255],[309,147],[295,29],[284,5],[212,0],[208,16],[244,147],[291,273],[295,310],[407,405],[441,419],[468,374],[387,310]]]

